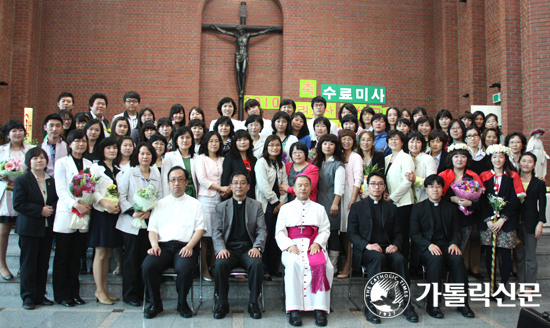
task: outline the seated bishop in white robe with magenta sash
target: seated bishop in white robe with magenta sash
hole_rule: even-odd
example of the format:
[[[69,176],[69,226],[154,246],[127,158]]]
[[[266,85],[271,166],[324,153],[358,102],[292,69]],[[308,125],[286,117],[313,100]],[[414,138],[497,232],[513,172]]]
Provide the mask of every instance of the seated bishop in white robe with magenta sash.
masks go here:
[[[316,323],[326,325],[334,268],[328,259],[330,222],[325,208],[309,199],[311,180],[296,178],[296,199],[281,207],[275,240],[283,251],[286,311],[290,323],[301,325],[299,311],[314,311]]]

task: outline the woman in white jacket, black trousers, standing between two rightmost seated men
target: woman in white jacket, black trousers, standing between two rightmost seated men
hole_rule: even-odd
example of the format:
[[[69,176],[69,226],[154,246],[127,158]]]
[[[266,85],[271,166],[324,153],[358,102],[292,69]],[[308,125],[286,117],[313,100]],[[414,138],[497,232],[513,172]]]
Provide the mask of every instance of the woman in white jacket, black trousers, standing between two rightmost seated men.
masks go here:
[[[397,218],[401,234],[403,234],[403,246],[400,249],[405,259],[409,260],[409,220],[414,194],[412,183],[407,179],[406,174],[414,172],[414,162],[411,155],[403,151],[405,135],[401,131],[392,130],[388,132],[387,142],[391,149],[391,155],[386,156],[386,183],[387,192],[385,199],[397,206]]]

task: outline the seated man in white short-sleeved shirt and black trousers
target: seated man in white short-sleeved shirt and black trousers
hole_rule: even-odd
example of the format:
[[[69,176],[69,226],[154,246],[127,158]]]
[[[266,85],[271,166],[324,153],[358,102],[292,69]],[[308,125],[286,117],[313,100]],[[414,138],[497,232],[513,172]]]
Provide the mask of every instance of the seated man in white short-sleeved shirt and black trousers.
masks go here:
[[[170,195],[161,199],[149,219],[151,249],[143,261],[143,282],[149,294],[150,305],[144,317],[156,317],[163,311],[160,299],[162,272],[174,266],[177,273],[177,310],[184,318],[193,311],[187,304],[187,293],[193,285],[193,269],[198,260],[199,241],[204,233],[204,212],[201,203],[185,194],[189,173],[181,166],[168,172]]]

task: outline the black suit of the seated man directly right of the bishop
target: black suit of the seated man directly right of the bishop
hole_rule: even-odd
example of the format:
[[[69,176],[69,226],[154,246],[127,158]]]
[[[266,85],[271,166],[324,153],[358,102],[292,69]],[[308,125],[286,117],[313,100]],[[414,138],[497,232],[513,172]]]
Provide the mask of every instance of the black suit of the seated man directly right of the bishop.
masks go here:
[[[380,206],[381,217],[376,217],[374,206]],[[366,266],[369,277],[373,277],[382,272],[386,266],[386,261],[388,261],[391,269],[401,275],[407,283],[410,283],[407,260],[399,253],[403,235],[399,231],[396,213],[397,207],[383,199],[375,204],[369,197],[351,205],[347,233],[348,239],[353,244],[352,263],[354,270],[359,270],[361,265]],[[381,220],[384,232],[383,239],[387,240],[387,244],[397,246],[397,252],[387,254],[366,248],[368,244],[372,243],[371,237],[375,219]],[[385,247],[382,247],[382,249],[385,252]]]

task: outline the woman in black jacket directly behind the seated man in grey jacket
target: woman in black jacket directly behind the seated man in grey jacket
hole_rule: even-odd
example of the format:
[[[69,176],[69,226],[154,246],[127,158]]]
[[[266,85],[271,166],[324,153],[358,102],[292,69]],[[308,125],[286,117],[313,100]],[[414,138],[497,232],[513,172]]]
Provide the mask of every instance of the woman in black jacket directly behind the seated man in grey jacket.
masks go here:
[[[254,166],[256,157],[253,152],[252,137],[247,130],[238,130],[231,140],[231,148],[223,161],[222,186],[229,186],[231,175],[234,172],[246,172],[250,176],[250,189],[246,194],[251,199],[256,199],[256,178]],[[231,194],[228,195],[228,198]]]

